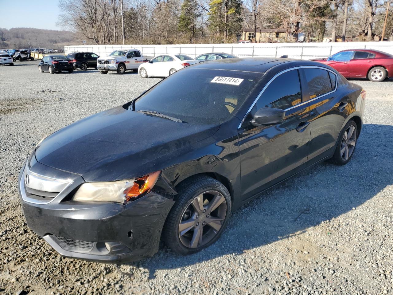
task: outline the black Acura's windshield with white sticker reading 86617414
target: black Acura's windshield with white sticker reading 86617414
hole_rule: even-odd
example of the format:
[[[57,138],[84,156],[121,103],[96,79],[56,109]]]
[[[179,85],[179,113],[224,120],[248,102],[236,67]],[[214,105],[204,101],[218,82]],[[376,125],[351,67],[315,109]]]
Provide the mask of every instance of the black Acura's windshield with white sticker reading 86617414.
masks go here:
[[[263,74],[186,68],[162,80],[135,102],[183,122],[220,124],[235,116]]]

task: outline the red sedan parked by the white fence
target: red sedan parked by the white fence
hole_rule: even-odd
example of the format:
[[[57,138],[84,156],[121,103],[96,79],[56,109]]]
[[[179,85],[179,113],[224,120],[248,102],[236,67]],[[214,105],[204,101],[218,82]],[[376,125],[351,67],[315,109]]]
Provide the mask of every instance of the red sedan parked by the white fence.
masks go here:
[[[331,66],[346,78],[368,78],[373,82],[393,77],[393,55],[371,49],[340,51],[327,59],[314,59]]]

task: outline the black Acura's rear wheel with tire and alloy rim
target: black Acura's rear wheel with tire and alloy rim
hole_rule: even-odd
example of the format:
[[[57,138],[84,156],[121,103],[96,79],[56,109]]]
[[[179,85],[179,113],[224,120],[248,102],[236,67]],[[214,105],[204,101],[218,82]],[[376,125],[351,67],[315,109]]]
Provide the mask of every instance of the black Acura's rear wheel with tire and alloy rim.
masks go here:
[[[338,136],[333,162],[337,165],[345,165],[351,160],[358,140],[358,126],[353,120],[345,125]]]

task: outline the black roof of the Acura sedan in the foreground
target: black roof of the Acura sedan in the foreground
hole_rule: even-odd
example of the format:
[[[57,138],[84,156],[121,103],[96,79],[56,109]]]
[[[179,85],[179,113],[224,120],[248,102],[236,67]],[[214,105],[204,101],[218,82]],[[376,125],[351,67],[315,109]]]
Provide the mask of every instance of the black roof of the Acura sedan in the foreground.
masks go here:
[[[270,58],[270,57],[253,57],[253,58],[226,58],[196,63],[192,68],[214,69],[214,70],[234,70],[255,73],[265,73],[274,66],[286,63],[287,68],[296,66],[319,66],[329,68],[329,66],[317,61],[288,59],[288,58]]]

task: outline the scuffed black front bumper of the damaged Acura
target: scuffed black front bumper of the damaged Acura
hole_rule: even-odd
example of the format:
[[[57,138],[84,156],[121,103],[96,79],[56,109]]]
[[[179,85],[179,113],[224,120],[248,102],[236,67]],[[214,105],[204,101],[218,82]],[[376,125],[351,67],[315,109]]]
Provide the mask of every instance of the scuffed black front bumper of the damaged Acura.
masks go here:
[[[35,163],[29,165],[29,170],[34,173],[46,171],[48,175],[48,170],[54,169],[31,162]],[[81,181],[80,176],[74,176],[72,184],[53,201],[37,203],[29,198],[22,177],[24,169],[19,177],[23,215],[28,226],[60,254],[115,263],[140,260],[158,251],[163,224],[174,203],[172,199],[150,192],[126,205],[75,202],[70,194]]]

